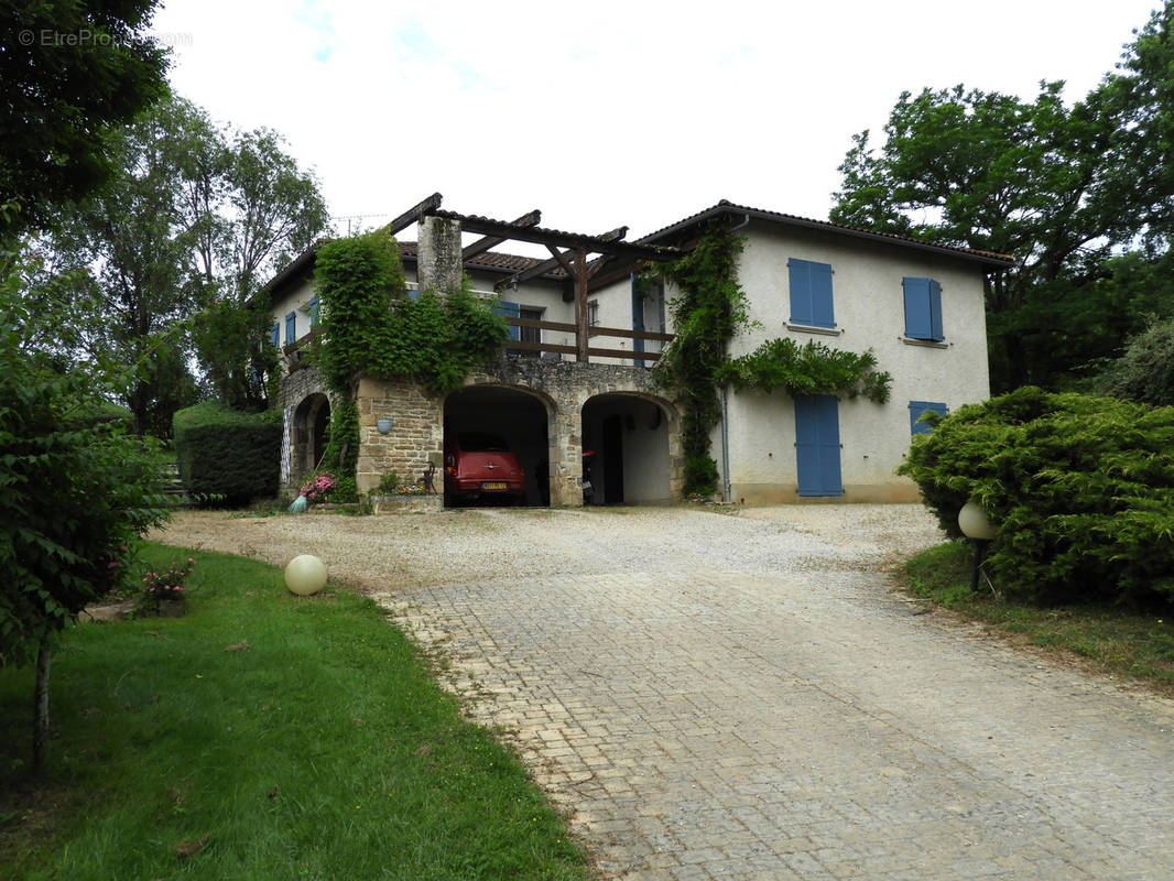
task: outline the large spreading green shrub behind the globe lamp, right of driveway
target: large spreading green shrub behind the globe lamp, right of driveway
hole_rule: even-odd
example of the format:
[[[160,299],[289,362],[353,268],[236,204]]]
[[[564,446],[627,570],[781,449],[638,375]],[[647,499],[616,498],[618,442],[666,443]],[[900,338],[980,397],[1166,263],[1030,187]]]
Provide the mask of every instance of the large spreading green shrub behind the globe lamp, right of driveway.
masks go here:
[[[1008,593],[1174,600],[1174,408],[1027,386],[935,419],[898,471],[951,536],[986,510]]]

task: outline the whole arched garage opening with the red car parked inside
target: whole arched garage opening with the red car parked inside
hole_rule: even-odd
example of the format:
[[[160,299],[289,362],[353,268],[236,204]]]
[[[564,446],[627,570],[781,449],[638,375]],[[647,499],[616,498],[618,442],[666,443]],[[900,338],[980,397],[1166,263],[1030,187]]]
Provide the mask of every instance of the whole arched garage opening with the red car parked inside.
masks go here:
[[[475,482],[464,479],[458,485],[450,472],[445,505],[549,505],[548,423],[546,404],[526,391],[473,385],[450,395],[444,405],[445,468],[467,457],[477,462],[478,473]],[[507,476],[511,455],[524,472],[520,496],[513,493]]]

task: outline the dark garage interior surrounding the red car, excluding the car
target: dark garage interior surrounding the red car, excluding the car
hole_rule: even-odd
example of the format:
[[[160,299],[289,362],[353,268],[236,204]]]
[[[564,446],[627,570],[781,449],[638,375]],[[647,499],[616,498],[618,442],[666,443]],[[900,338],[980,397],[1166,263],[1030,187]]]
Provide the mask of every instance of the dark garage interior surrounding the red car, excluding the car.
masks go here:
[[[500,385],[471,385],[451,394],[444,404],[445,465],[453,442],[461,433],[498,437],[518,458],[525,472],[522,504],[545,507],[551,504],[549,410],[528,391]],[[461,500],[445,493],[445,505],[492,504],[484,498]]]

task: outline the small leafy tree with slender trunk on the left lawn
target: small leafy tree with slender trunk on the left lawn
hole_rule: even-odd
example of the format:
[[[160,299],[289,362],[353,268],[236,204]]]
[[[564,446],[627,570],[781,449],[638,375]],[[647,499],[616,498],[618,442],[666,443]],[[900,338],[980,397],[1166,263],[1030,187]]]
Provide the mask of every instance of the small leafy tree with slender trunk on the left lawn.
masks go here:
[[[38,344],[52,309],[27,308],[23,261],[0,281],[0,664],[36,661],[33,764],[48,726],[53,641],[126,574],[135,540],[167,516],[158,469],[107,394],[116,377],[61,374]],[[46,302],[52,302],[49,296]]]

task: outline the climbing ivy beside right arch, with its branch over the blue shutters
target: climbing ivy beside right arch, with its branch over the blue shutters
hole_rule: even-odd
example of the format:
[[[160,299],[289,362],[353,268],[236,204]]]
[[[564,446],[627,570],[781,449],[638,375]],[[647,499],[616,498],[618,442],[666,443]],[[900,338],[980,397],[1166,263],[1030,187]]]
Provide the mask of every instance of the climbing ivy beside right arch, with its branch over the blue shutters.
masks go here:
[[[718,388],[755,389],[788,395],[864,395],[889,399],[892,378],[878,372],[871,351],[856,354],[822,343],[769,339],[749,355],[731,359],[726,350],[737,330],[749,325],[745,292],[737,282],[737,261],[745,247],[711,226],[684,257],[662,264],[655,275],[673,282],[680,295],[670,301],[674,339],[656,365],[657,382],[682,408],[683,492],[717,491],[717,463],[709,437],[721,419]]]

